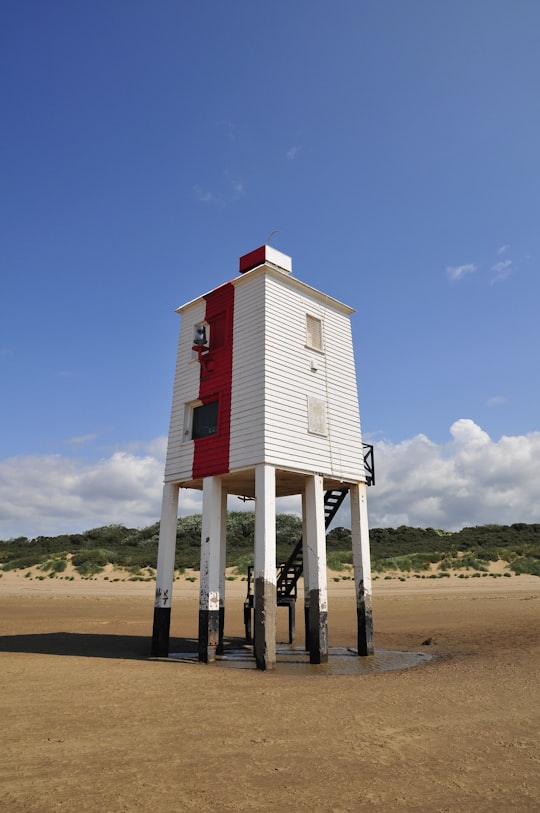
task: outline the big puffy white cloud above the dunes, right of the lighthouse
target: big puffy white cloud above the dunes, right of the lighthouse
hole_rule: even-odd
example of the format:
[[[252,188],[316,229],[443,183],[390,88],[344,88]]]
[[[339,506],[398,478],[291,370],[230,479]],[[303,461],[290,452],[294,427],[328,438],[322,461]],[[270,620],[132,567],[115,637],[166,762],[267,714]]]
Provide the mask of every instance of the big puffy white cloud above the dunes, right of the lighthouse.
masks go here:
[[[540,522],[540,432],[493,441],[463,418],[450,434],[441,445],[424,435],[377,443],[372,527]]]

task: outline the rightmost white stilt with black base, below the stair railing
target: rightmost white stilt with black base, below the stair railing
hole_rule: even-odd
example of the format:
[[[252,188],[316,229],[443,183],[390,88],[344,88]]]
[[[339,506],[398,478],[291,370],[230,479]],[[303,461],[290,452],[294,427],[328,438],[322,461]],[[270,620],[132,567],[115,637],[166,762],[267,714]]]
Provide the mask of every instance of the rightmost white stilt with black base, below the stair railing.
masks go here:
[[[371,561],[365,483],[351,486],[351,536],[356,615],[358,619],[358,654],[373,655],[373,615],[371,607]]]

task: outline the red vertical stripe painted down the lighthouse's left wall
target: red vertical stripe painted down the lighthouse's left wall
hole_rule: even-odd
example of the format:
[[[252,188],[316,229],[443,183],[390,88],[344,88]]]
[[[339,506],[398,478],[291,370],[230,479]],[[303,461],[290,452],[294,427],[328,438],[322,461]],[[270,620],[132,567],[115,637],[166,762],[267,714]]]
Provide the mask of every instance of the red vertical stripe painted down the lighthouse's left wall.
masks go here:
[[[206,404],[219,401],[215,435],[194,440],[193,478],[212,477],[229,471],[234,286],[228,282],[205,296],[205,321],[210,326],[210,349],[203,356],[199,398]]]

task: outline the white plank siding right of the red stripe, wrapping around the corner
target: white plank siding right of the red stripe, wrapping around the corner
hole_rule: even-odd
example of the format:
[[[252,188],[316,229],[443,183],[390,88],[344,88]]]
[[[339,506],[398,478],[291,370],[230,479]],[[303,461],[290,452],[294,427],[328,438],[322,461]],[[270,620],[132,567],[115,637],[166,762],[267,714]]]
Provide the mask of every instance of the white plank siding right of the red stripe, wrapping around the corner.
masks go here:
[[[321,319],[322,353],[306,347],[307,314]],[[363,479],[350,309],[257,270],[236,286],[233,347],[231,471],[270,463]],[[326,436],[308,431],[308,397],[327,405]]]

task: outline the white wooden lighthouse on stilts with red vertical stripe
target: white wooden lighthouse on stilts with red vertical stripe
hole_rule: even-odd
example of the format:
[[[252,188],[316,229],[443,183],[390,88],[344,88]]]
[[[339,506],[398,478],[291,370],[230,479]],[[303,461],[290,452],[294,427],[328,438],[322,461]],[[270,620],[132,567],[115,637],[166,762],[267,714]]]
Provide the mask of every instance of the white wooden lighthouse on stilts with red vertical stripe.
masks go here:
[[[276,660],[276,497],[302,495],[310,661],[328,657],[325,492],[350,493],[358,654],[373,652],[366,471],[353,309],[262,246],[182,317],[161,513],[152,653],[167,656],[180,488],[203,493],[199,659],[223,644],[227,495],[255,500],[254,654]]]

